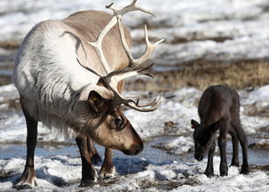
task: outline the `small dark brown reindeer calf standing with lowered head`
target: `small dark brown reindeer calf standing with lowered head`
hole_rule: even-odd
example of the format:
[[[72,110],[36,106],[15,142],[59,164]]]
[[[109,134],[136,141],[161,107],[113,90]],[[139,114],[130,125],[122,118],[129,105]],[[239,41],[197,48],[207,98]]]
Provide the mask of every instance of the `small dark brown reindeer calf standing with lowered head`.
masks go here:
[[[192,119],[194,128],[194,157],[202,161],[208,153],[208,164],[205,174],[213,176],[213,155],[215,151],[215,137],[219,130],[218,147],[220,150],[220,175],[226,176],[228,166],[226,161],[226,136],[229,133],[233,140],[232,164],[239,166],[238,140],[241,144],[243,164],[241,173],[249,173],[248,164],[248,140],[241,128],[240,122],[240,99],[238,93],[224,85],[210,86],[202,94],[199,102],[198,113],[201,124]]]

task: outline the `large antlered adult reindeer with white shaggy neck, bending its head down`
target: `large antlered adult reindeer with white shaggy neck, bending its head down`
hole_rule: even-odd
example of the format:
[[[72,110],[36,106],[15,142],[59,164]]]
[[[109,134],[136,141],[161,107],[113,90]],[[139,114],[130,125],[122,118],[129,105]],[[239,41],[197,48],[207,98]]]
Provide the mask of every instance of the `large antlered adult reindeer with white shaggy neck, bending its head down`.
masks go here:
[[[152,76],[144,64],[157,45],[150,44],[146,26],[146,51],[138,59],[131,56],[131,36],[123,27],[122,16],[141,11],[137,1],[114,12],[76,12],[64,20],[45,20],[25,37],[15,60],[13,81],[20,92],[20,104],[27,122],[27,160],[17,188],[35,186],[34,153],[37,123],[76,133],[82,159],[81,186],[96,180],[91,165],[92,140],[106,147],[100,175],[114,174],[112,148],[137,155],[143,142],[121,106],[148,112],[157,108],[160,97],[141,105],[124,97],[123,80],[130,76]],[[117,25],[116,25],[117,24]],[[91,147],[91,148],[89,148]]]

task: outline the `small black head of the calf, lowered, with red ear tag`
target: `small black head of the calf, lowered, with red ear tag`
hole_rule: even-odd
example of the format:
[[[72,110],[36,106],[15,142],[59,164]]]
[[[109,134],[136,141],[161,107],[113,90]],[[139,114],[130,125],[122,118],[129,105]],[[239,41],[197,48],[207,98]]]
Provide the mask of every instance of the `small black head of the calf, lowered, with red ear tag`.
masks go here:
[[[194,129],[194,158],[202,161],[215,142],[215,133],[218,130],[218,122],[210,125],[202,125],[194,119],[191,121]]]

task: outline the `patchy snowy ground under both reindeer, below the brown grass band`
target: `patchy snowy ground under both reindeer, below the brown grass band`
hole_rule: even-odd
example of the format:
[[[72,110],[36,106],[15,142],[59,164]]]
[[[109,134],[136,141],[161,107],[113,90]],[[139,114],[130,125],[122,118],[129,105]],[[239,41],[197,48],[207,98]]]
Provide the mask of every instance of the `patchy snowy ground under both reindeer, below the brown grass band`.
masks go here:
[[[241,121],[248,135],[265,134],[268,137],[265,128],[268,132],[269,119],[247,116],[244,113],[245,106],[249,107],[249,105],[268,108],[268,89],[269,85],[266,85],[252,92],[247,92],[246,90],[240,92],[243,104],[241,107]],[[14,87],[12,85],[2,86],[0,92],[1,95],[5,95],[0,98],[1,100],[10,100],[14,93]],[[255,191],[256,189],[258,191],[267,191],[269,189],[269,172],[258,170],[257,165],[269,164],[266,158],[268,151],[265,152],[264,156],[257,156],[257,151],[255,150],[249,151],[249,164],[251,164],[249,175],[241,175],[239,174],[240,168],[231,167],[229,176],[219,177],[219,156],[215,158],[214,163],[216,176],[208,179],[202,174],[206,167],[206,160],[203,160],[202,163],[194,160],[192,155],[194,150],[193,130],[190,128],[190,119],[198,119],[196,107],[197,100],[199,100],[201,94],[202,92],[194,88],[180,89],[177,92],[165,93],[160,108],[155,112],[145,115],[131,109],[127,110],[126,116],[131,120],[131,124],[136,127],[139,135],[144,140],[147,140],[147,143],[152,143],[150,140],[155,136],[178,136],[168,137],[165,140],[156,138],[154,144],[147,144],[146,152],[142,152],[138,156],[128,157],[123,156],[121,153],[116,153],[114,162],[118,175],[114,179],[99,180],[98,185],[82,190],[131,191],[143,190],[144,188],[145,191],[170,189],[174,191]],[[12,100],[16,100],[16,95],[13,96]],[[1,104],[0,108],[4,110],[9,107]],[[4,148],[7,148],[6,151],[12,149],[14,155],[12,156],[11,152],[6,155],[5,152],[5,158],[0,159],[0,172],[2,176],[7,175],[7,178],[1,181],[0,188],[13,190],[12,182],[18,179],[25,164],[25,155],[20,151],[23,150],[25,153],[25,148],[12,146],[13,143],[26,140],[23,116],[20,113],[1,116],[0,130],[0,140],[3,144],[2,150],[4,151]],[[39,131],[39,141],[63,141],[56,135],[53,137],[53,134],[44,128]],[[257,139],[259,140],[260,137]],[[52,188],[56,191],[81,190],[81,188],[77,187],[81,178],[80,158],[75,149],[74,141],[67,140],[65,144],[68,142],[72,146],[71,148],[59,146],[59,148],[66,148],[63,149],[64,152],[59,152],[62,149],[57,148],[54,148],[56,150],[54,153],[47,152],[46,148],[37,149],[36,183],[38,187],[36,187],[36,190],[50,191]],[[10,143],[12,147],[6,143]],[[170,156],[153,147],[162,148]],[[231,156],[230,147],[228,151],[228,156]],[[263,159],[256,159],[261,157]],[[96,168],[99,170],[100,164]]]

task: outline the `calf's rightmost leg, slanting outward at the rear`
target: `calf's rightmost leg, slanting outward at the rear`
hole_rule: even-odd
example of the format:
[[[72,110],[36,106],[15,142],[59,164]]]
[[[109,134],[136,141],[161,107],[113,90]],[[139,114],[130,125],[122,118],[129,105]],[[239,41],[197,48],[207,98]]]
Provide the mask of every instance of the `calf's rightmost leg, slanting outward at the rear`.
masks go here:
[[[241,165],[241,173],[249,174],[249,163],[248,163],[248,140],[245,132],[241,128],[240,120],[235,123],[237,136],[239,138],[243,156],[243,164]]]

